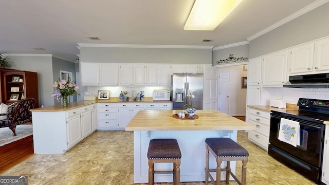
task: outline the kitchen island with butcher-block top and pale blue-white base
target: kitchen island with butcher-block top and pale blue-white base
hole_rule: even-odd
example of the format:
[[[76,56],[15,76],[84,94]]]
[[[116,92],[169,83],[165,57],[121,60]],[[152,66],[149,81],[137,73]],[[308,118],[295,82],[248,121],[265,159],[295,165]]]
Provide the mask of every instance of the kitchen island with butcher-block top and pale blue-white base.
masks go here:
[[[181,110],[182,111],[182,110]],[[181,150],[180,181],[205,181],[205,139],[227,137],[236,141],[238,130],[254,130],[255,126],[217,110],[197,110],[198,119],[174,118],[178,110],[143,110],[125,127],[134,131],[134,182],[148,182],[147,152],[151,139],[173,138]],[[223,163],[222,168],[226,165]],[[235,162],[231,162],[231,167]],[[172,170],[171,163],[155,164],[155,169]],[[210,168],[216,168],[210,158]],[[232,168],[235,173],[235,168]],[[225,173],[222,172],[223,179]],[[215,175],[214,175],[215,177]],[[155,174],[155,182],[172,182],[170,174]]]

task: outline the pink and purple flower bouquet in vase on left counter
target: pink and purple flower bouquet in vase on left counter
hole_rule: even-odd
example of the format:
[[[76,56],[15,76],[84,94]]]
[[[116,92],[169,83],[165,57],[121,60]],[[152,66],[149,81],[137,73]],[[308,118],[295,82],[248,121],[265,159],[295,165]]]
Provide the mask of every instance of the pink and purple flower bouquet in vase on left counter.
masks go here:
[[[79,95],[79,87],[75,83],[71,82],[70,78],[68,78],[67,81],[65,79],[61,80],[58,78],[58,81],[53,83],[53,87],[55,90],[51,96],[56,98],[57,101],[60,101],[61,97],[72,96],[74,94]]]

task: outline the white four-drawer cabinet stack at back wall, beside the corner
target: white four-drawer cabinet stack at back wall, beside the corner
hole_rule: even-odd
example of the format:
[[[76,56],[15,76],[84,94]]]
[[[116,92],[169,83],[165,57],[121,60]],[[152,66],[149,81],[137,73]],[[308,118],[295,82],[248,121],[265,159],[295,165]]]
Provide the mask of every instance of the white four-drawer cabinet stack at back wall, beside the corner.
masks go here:
[[[118,128],[117,103],[97,103],[98,130],[114,130]]]

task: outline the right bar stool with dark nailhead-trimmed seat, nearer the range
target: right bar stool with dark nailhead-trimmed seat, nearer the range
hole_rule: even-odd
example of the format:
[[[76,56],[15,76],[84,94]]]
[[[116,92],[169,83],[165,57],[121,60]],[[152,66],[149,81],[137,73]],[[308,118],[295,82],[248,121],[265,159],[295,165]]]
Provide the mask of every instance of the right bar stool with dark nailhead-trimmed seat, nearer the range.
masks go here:
[[[209,151],[216,158],[217,168],[209,169]],[[206,139],[206,168],[205,182],[208,184],[208,177],[213,184],[221,183],[221,171],[226,171],[226,183],[229,183],[230,174],[238,184],[246,184],[246,173],[249,153],[241,145],[237,144],[230,138],[207,138]],[[222,161],[227,161],[226,169],[221,169]],[[242,161],[242,180],[241,182],[231,172],[230,161]],[[210,172],[216,172],[216,181],[211,176]]]

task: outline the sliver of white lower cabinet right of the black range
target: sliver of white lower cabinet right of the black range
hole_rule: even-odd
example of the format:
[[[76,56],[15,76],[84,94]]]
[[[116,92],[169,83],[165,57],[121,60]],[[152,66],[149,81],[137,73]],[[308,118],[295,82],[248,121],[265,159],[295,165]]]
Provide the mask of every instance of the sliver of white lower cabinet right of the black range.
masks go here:
[[[321,181],[329,184],[329,125],[325,125]]]

